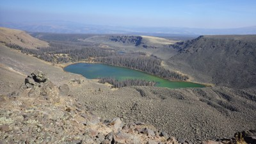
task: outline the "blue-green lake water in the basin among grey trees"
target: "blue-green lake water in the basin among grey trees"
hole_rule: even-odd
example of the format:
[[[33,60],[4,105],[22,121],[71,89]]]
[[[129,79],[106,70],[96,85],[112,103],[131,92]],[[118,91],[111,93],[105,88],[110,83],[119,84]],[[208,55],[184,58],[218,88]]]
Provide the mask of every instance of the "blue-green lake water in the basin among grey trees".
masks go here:
[[[132,70],[130,68],[115,67],[111,65],[104,65],[101,63],[76,63],[68,65],[64,68],[67,72],[75,74],[81,74],[88,79],[97,79],[99,77],[113,77],[122,81],[124,79],[144,79],[146,81],[155,81],[156,86],[167,88],[202,88],[205,87],[202,84],[180,82],[180,81],[168,81],[157,76],[146,74],[138,70]]]

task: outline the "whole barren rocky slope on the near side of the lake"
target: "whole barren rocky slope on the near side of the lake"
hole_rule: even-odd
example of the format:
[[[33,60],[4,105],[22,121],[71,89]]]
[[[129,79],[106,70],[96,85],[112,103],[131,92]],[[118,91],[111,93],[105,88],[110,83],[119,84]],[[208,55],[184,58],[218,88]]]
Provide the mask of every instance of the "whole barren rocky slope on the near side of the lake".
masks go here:
[[[100,143],[98,138],[108,139],[106,134],[115,131],[115,126],[108,122],[115,117],[120,117],[127,127],[140,122],[132,128],[135,134],[132,133],[132,136],[136,136],[141,143],[150,143],[149,140],[157,143],[164,140],[167,143],[163,136],[157,138],[164,131],[168,137],[178,138],[180,143],[185,140],[200,143],[202,140],[232,138],[237,131],[256,129],[255,87],[234,89],[217,86],[171,90],[134,86],[113,90],[108,85],[64,72],[60,67],[2,44],[0,64],[0,136],[4,138],[4,143],[26,140],[40,143],[40,138],[49,143],[85,143],[86,140]],[[26,87],[22,89],[24,79],[34,70],[45,72],[51,83],[48,79],[40,87],[37,82],[33,84],[35,72],[28,77]],[[45,76],[41,77],[44,79]],[[82,113],[93,117],[93,120],[100,116],[102,120],[97,120],[99,123],[94,128],[84,125],[86,116],[81,116]],[[144,130],[148,128],[154,131],[155,136],[149,136],[152,139],[144,138],[147,133],[138,128],[141,124]],[[100,127],[104,127],[104,130]],[[86,133],[87,128],[93,131],[96,129],[97,134],[101,132],[105,135],[90,136],[90,133]],[[105,128],[108,132],[104,132]],[[125,138],[131,138],[131,133],[125,129],[121,130],[119,136],[125,133]],[[116,135],[118,132],[115,131],[113,136]]]

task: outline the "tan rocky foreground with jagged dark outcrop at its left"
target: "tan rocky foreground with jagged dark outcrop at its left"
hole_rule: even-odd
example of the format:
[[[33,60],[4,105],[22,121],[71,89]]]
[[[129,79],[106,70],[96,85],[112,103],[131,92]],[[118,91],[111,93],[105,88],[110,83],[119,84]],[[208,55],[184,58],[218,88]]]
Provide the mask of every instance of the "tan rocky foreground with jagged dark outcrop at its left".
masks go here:
[[[191,143],[144,122],[102,120],[36,70],[19,92],[0,97],[0,143]],[[256,143],[256,131],[198,143]]]

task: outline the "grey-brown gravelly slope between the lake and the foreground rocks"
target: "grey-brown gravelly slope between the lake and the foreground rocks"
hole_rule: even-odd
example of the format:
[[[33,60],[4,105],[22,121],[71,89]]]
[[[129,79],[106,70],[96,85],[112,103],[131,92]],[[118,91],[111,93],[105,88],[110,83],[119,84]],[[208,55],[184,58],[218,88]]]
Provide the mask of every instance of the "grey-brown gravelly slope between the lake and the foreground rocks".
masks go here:
[[[256,128],[256,93],[248,90],[149,86],[93,94],[88,90],[74,86],[72,93],[102,118],[146,122],[185,140],[230,138],[236,131]]]

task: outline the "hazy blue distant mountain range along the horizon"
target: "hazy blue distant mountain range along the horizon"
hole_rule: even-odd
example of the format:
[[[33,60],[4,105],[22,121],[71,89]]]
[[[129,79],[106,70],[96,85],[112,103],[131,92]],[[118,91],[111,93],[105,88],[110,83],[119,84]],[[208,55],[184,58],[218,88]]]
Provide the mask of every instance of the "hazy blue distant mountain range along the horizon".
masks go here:
[[[256,34],[256,26],[230,29],[205,28],[157,28],[137,26],[105,26],[81,24],[67,21],[39,21],[39,22],[0,22],[1,27],[21,29],[30,32],[44,33],[95,33],[111,34],[125,33],[135,35],[250,35]]]

